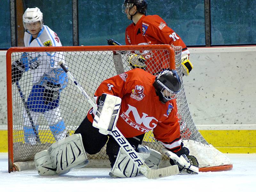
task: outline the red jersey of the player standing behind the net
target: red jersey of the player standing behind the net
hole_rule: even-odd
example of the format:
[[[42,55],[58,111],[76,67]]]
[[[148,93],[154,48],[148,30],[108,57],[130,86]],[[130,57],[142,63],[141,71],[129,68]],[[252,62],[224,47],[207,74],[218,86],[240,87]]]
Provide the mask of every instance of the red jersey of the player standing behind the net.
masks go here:
[[[173,44],[182,47],[182,55],[189,55],[189,51],[180,36],[167,26],[165,21],[158,15],[143,15],[136,23],[132,23],[125,30],[125,43],[127,45],[147,45],[147,44]],[[160,51],[140,53],[146,59],[147,71],[157,73],[169,66],[169,57]],[[166,53],[165,53],[166,54]],[[158,56],[158,57],[157,57]],[[156,60],[156,58],[158,58]]]

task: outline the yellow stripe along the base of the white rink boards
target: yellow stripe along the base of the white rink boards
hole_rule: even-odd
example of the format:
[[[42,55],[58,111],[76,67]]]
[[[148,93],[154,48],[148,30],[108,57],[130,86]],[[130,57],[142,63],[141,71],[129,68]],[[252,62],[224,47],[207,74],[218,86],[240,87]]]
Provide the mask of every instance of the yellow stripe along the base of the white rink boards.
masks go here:
[[[44,135],[52,138],[49,130],[45,132]],[[222,153],[256,153],[256,130],[199,130],[199,132],[208,143]],[[19,133],[22,134],[21,131]],[[146,137],[152,141],[153,134],[148,133]],[[7,130],[0,130],[0,152],[8,152],[7,143]]]

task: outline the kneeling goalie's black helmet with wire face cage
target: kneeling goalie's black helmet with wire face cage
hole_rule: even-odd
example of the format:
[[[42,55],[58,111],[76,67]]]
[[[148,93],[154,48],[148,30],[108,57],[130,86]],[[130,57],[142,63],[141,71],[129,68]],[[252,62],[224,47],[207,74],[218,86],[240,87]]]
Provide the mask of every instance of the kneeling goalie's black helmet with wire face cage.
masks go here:
[[[177,71],[166,69],[156,76],[153,86],[156,89],[159,100],[166,103],[175,99],[180,92],[180,77]]]

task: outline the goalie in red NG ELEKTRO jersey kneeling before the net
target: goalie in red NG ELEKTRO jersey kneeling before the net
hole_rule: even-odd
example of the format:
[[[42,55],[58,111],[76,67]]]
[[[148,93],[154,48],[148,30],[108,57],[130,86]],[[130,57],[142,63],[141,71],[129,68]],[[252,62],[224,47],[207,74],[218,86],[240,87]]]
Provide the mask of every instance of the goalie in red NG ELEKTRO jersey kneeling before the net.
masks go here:
[[[103,93],[121,98],[116,127],[152,169],[158,168],[162,155],[141,145],[145,133],[150,130],[153,130],[155,139],[168,151],[179,157],[189,154],[181,142],[177,117],[175,98],[180,92],[180,86],[180,78],[175,70],[163,70],[158,76],[153,76],[136,68],[103,81],[95,92],[97,104]],[[84,150],[96,154],[107,142],[106,153],[112,167],[109,175],[123,178],[136,176],[137,167],[116,140],[111,135],[101,134],[99,129],[92,126],[95,113],[91,109],[75,131],[82,136]],[[170,162],[175,164],[173,160]]]

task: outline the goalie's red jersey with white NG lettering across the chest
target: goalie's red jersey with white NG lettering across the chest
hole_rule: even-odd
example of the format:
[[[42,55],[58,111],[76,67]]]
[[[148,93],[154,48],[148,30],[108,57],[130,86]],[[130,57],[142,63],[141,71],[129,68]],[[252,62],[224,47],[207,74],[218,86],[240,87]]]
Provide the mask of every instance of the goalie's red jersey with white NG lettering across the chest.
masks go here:
[[[153,86],[155,78],[136,68],[103,81],[95,97],[107,93],[122,99],[116,126],[124,137],[131,138],[153,130],[156,140],[176,152],[181,144],[176,101],[165,104],[159,101]],[[92,122],[94,115],[91,110],[87,117]]]

